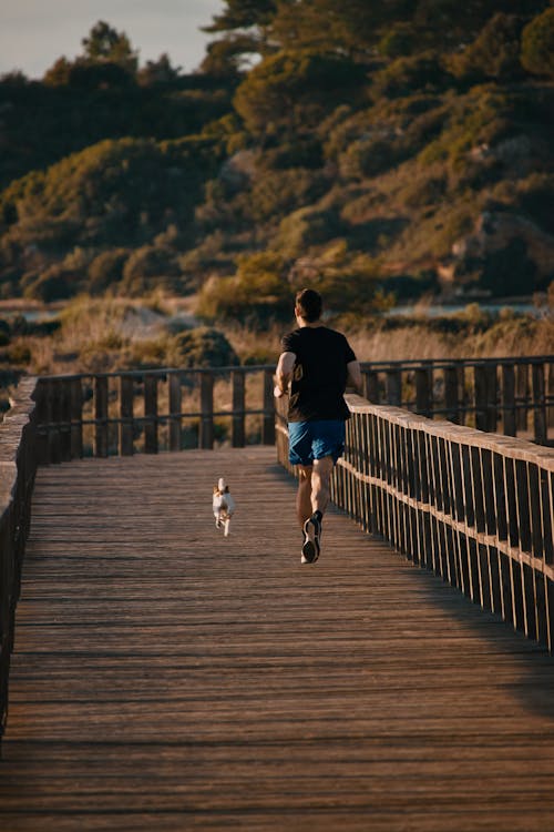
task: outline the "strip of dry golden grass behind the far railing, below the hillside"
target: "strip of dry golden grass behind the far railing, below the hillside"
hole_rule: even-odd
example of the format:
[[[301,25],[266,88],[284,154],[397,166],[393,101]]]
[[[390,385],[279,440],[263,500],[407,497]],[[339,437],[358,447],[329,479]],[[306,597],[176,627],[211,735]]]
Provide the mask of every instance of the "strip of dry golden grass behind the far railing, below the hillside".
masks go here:
[[[154,308],[153,308],[154,307]],[[33,374],[61,374],[131,368],[155,358],[168,366],[168,322],[192,316],[179,300],[162,298],[143,305],[121,298],[79,298],[61,314],[61,326],[51,336],[14,338],[13,354],[30,352],[25,369]],[[191,317],[191,323],[195,323]],[[419,317],[401,321],[337,318],[330,322],[347,334],[362,362],[410,358],[475,358],[543,355],[554,352],[554,314],[542,318],[501,314],[486,318],[478,306],[469,306],[450,319]],[[220,326],[242,364],[275,364],[284,332],[295,326],[274,324],[255,332],[236,323]],[[164,357],[166,357],[164,362]]]

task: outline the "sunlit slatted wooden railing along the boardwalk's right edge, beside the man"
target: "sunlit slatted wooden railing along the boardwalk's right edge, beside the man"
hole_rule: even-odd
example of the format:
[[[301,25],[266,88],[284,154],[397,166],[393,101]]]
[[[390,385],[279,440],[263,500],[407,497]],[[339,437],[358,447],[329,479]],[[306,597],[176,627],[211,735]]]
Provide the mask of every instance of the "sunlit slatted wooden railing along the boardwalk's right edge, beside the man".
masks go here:
[[[334,501],[552,651],[554,449],[347,399]],[[278,412],[278,458],[294,473],[284,400]]]

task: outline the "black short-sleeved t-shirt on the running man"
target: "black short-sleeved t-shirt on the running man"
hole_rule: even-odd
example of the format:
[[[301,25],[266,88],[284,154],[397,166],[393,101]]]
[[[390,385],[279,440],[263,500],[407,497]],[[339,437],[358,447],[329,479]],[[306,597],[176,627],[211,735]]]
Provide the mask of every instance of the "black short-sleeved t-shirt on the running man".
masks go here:
[[[284,353],[296,355],[288,420],[348,419],[347,364],[356,355],[345,336],[327,326],[302,326],[285,335],[281,344]]]

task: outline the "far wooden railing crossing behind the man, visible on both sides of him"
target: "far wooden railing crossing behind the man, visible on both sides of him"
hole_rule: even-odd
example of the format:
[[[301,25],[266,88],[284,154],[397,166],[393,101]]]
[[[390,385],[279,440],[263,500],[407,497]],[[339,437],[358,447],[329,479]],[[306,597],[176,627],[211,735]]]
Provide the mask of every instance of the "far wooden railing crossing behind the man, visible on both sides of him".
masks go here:
[[[273,365],[48,376],[39,460],[273,444]],[[554,443],[554,356],[362,364],[365,392],[424,416]]]

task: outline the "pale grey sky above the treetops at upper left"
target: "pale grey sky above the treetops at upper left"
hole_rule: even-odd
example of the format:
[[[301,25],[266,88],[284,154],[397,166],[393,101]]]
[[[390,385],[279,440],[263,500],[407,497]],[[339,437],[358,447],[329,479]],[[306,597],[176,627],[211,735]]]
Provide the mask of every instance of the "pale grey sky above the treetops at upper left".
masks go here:
[[[104,20],[124,31],[141,64],[167,52],[191,72],[214,35],[199,31],[223,0],[0,0],[0,75],[21,70],[41,78],[61,55],[82,52],[81,40]]]

